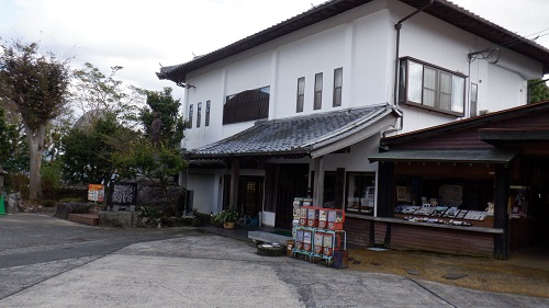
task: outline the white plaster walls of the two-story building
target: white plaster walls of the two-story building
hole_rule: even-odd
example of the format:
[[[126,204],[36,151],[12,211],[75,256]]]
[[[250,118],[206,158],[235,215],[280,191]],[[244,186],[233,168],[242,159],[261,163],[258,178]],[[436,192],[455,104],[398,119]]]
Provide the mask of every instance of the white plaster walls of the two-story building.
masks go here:
[[[254,122],[222,125],[226,95],[270,87],[269,119],[302,116],[337,109],[394,102],[394,65],[396,32],[394,24],[415,9],[399,1],[374,1],[330,20],[311,25],[296,33],[201,68],[187,76],[195,85],[187,90],[184,114],[193,104],[193,122],[198,103],[202,102],[202,125],[187,129],[182,141],[193,149],[242,132]],[[497,64],[477,59],[468,54],[493,44],[448,23],[418,13],[406,20],[401,30],[399,57],[412,57],[433,66],[468,76],[469,84],[479,87],[478,110],[490,112],[526,103],[526,80],[541,77],[541,65],[508,49],[503,49]],[[332,106],[334,69],[343,68],[343,106]],[[322,110],[313,110],[315,73],[323,72]],[[295,112],[298,79],[305,77],[305,103],[302,113]],[[466,99],[466,100],[467,100]],[[204,126],[205,102],[211,102],[211,124]],[[405,104],[399,105],[404,114],[403,129],[397,134],[423,129],[460,119]],[[469,106],[466,103],[466,116]],[[377,171],[377,163],[368,155],[378,152],[380,135],[351,146],[350,153],[326,156],[324,169],[335,171]],[[295,163],[298,160],[272,159],[270,162]],[[312,159],[299,162],[310,163]],[[217,171],[221,172],[221,171]],[[242,170],[240,174],[260,175],[262,171]],[[194,207],[202,213],[221,208],[219,176],[190,174],[189,186],[195,194]],[[210,192],[214,192],[213,194]],[[264,213],[264,224],[273,226],[274,214]]]

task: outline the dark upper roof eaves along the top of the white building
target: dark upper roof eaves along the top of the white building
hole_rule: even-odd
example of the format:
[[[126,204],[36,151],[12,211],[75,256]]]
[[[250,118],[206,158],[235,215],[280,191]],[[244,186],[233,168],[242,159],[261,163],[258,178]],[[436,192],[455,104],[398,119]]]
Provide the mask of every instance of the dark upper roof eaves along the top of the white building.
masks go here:
[[[210,54],[197,57],[189,62],[160,68],[159,79],[172,80],[177,83],[186,81],[187,73],[209,66],[222,59],[255,48],[295,31],[341,14],[348,10],[372,2],[373,0],[332,0],[285,20],[269,28],[260,31]],[[424,8],[426,0],[400,0],[413,8]],[[494,44],[526,55],[544,65],[544,72],[549,72],[549,50],[534,41],[505,30],[470,11],[456,5],[449,0],[437,0],[424,10],[425,13],[460,27],[469,33],[485,38]]]

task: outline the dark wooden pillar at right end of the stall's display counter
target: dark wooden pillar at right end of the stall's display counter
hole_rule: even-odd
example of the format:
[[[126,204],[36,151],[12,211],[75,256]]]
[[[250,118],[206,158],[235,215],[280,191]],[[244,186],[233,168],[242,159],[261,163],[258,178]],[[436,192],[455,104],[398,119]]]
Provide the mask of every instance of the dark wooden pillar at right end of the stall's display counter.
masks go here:
[[[495,167],[494,228],[503,229],[494,236],[494,258],[506,260],[509,256],[509,170],[507,166]]]

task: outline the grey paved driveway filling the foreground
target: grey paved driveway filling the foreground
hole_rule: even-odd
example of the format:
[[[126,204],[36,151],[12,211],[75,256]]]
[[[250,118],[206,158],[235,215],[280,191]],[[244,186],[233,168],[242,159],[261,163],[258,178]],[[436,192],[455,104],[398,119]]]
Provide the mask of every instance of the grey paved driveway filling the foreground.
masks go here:
[[[0,307],[549,307],[395,275],[261,256],[195,228],[0,216]]]

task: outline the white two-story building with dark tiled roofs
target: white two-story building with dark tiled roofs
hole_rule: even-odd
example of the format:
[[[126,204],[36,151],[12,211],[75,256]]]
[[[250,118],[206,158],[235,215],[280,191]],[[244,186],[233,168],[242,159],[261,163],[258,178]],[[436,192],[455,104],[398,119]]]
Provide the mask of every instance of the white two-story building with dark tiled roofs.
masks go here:
[[[548,68],[446,0],[334,0],[157,76],[187,88],[193,208],[289,228],[307,195],[376,217],[380,138],[524,105]]]

